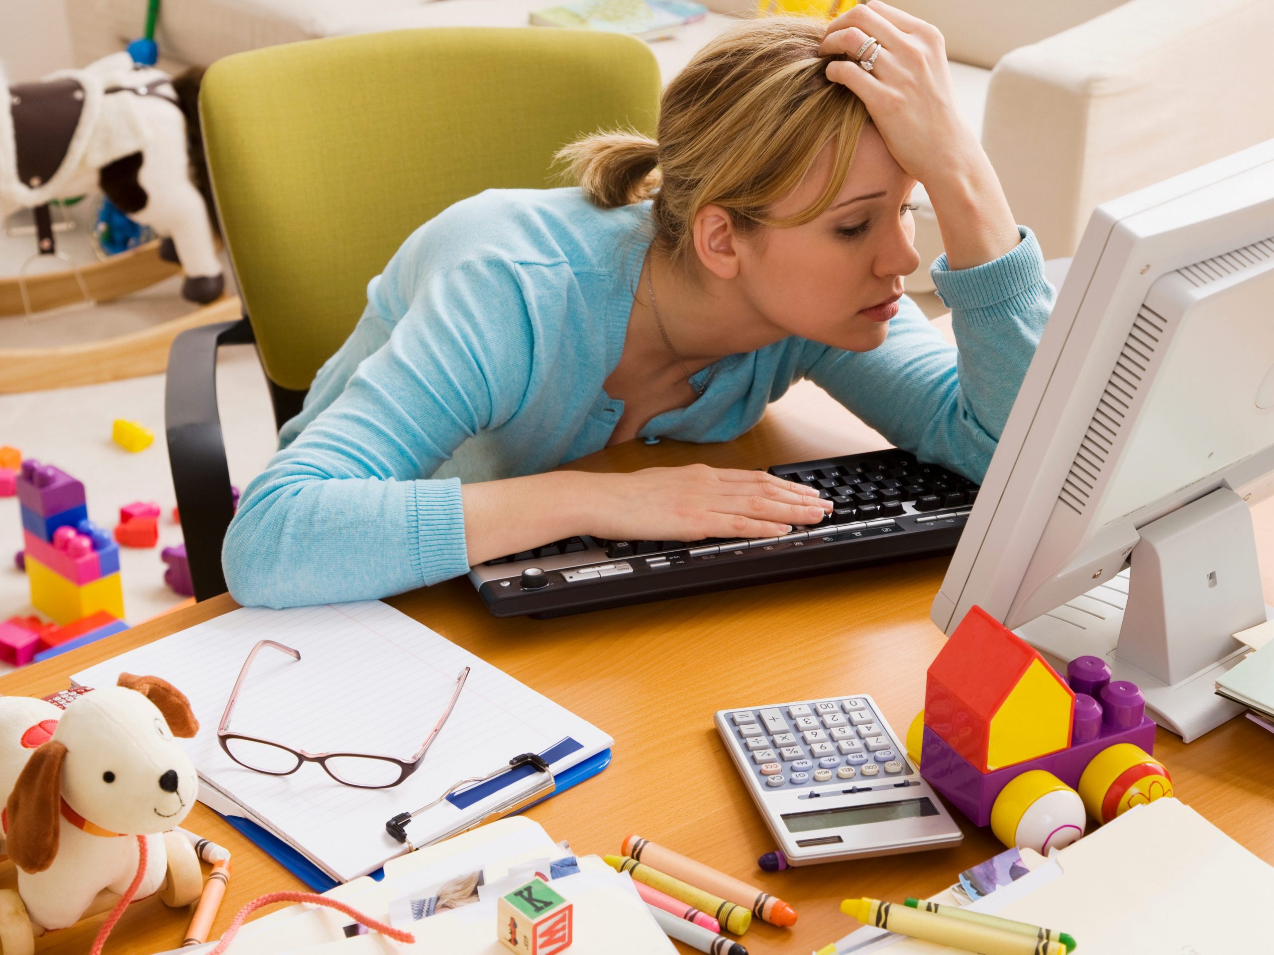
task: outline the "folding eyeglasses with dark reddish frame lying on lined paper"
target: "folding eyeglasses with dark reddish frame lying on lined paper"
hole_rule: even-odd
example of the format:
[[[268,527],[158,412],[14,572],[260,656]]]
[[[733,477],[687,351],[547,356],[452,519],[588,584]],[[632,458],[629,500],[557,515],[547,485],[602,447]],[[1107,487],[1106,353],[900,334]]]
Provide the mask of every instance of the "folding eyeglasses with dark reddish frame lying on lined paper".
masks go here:
[[[460,690],[465,686],[465,680],[469,679],[469,667],[465,667],[456,676],[456,689],[451,693],[447,708],[442,712],[428,739],[426,739],[417,754],[409,760],[368,753],[306,753],[304,750],[294,750],[273,740],[243,736],[242,733],[232,733],[229,731],[231,711],[234,709],[234,700],[238,698],[243,677],[247,676],[248,667],[252,666],[252,660],[260,652],[261,647],[274,647],[293,660],[301,660],[298,651],[292,649],[292,647],[284,647],[275,640],[260,640],[252,647],[252,651],[247,654],[247,660],[243,661],[238,679],[234,681],[234,689],[231,690],[231,698],[225,702],[225,712],[222,713],[222,722],[217,727],[217,741],[225,750],[225,755],[241,767],[256,773],[266,773],[268,775],[290,775],[301,769],[302,763],[317,763],[326,770],[327,775],[343,786],[354,786],[359,789],[392,788],[412,775],[420,765],[424,754],[429,750],[429,745],[442,730],[443,723],[447,722],[451,711],[455,709],[456,700],[460,699]]]

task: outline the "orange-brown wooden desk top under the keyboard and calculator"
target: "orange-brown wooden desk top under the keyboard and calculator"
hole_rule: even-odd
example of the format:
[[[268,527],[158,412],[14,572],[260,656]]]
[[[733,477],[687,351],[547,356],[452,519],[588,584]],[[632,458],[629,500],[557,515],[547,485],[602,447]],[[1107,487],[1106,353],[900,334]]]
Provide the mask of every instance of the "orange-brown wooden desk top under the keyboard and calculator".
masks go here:
[[[731,444],[629,443],[573,466],[633,470],[701,460],[752,467],[882,444],[826,395],[801,386]],[[1271,596],[1274,506],[1254,513]],[[757,857],[773,845],[712,728],[713,711],[724,707],[861,690],[905,731],[922,705],[925,667],[943,643],[929,605],[944,568],[944,559],[919,560],[559,620],[496,620],[462,579],[390,602],[614,736],[615,761],[606,772],[530,810],[553,838],[569,839],[581,853],[615,853],[627,833],[640,833],[786,899],[800,913],[794,930],[757,922],[743,938],[749,952],[767,955],[808,952],[845,935],[854,927],[837,908],[845,896],[927,895],[1000,848],[990,831],[966,824],[967,838],[954,849],[761,872]],[[0,680],[0,693],[52,693],[74,671],[233,606],[223,596],[169,614],[11,674]],[[1233,719],[1190,746],[1161,731],[1156,754],[1184,801],[1274,863],[1270,746],[1263,730]],[[201,803],[185,825],[234,856],[214,937],[256,895],[302,888]],[[13,877],[6,866],[0,884]],[[175,947],[187,918],[153,899],[134,905],[107,952]],[[80,955],[101,921],[57,932],[39,951]]]

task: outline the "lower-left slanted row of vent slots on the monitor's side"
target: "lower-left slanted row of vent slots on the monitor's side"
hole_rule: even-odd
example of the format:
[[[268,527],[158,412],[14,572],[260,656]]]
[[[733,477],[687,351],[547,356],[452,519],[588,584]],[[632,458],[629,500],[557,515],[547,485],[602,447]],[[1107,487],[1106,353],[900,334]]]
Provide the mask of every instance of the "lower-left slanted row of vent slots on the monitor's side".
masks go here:
[[[1274,257],[1274,244],[1270,255]],[[1097,401],[1097,409],[1088,423],[1079,451],[1070,465],[1057,499],[1077,514],[1084,513],[1088,500],[1097,489],[1097,481],[1106,461],[1115,449],[1115,442],[1131,414],[1136,392],[1142,388],[1150,360],[1154,357],[1168,323],[1154,309],[1142,306],[1136,320],[1124,341],[1124,349],[1115,362],[1106,388]]]

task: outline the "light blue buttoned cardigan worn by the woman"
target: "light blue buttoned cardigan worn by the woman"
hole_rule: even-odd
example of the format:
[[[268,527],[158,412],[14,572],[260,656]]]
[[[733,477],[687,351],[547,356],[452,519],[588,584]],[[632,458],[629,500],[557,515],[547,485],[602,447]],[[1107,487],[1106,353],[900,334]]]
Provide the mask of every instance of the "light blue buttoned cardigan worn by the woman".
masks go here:
[[[241,604],[385,597],[468,572],[460,480],[550,470],[605,447],[648,246],[650,204],[578,188],[492,190],[451,206],[368,284],[282,449],[246,489],[223,562]],[[790,337],[717,363],[642,437],[730,441],[810,378],[898,447],[980,480],[1052,309],[1040,246],[930,269],[959,351],[908,298],[866,353]]]

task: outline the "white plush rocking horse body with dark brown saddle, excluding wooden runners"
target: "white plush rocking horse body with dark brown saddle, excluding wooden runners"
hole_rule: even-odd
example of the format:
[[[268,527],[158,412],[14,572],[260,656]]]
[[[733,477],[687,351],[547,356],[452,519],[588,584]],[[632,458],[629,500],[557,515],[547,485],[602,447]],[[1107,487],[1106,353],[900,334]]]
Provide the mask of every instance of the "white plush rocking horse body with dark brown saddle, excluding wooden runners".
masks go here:
[[[54,255],[48,202],[99,187],[136,222],[171,238],[182,295],[222,294],[211,196],[196,112],[199,75],[176,80],[115,53],[41,83],[0,75],[0,220],[34,210],[42,255]]]

